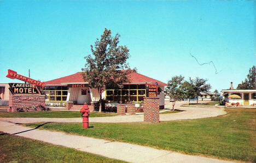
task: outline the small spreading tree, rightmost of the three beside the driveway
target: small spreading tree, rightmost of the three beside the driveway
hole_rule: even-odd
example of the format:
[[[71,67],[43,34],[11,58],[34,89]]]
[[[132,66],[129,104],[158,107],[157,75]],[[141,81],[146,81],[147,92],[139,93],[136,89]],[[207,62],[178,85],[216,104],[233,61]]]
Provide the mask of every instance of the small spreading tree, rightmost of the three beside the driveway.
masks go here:
[[[211,84],[206,84],[208,79],[200,79],[199,77],[196,77],[195,80],[189,77],[189,81],[194,86],[195,94],[196,94],[196,103],[198,104],[198,97],[201,95],[201,93],[209,92],[212,86]]]

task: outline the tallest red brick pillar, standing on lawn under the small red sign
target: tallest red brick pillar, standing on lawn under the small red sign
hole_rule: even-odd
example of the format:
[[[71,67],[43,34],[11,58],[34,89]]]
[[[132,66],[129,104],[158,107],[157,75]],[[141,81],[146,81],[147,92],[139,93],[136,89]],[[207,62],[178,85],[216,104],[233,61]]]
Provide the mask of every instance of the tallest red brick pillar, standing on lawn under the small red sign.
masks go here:
[[[159,97],[143,98],[144,122],[159,123]]]

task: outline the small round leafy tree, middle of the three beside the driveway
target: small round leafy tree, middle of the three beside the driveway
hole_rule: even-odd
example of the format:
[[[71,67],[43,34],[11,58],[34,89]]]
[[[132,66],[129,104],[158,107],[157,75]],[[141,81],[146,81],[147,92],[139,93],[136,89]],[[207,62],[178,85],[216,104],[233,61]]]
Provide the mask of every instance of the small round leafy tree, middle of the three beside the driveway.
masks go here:
[[[196,97],[195,86],[190,82],[185,81],[182,83],[182,89],[183,89],[183,98],[189,99],[189,105],[190,105],[190,99],[194,99]]]

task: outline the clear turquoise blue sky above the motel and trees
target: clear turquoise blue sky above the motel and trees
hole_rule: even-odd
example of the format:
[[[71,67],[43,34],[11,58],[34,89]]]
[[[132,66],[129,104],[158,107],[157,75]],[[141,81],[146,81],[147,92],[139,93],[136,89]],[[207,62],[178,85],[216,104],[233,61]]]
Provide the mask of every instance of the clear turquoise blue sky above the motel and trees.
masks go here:
[[[21,82],[8,69],[40,81],[81,71],[104,28],[131,68],[165,83],[236,88],[256,65],[256,1],[0,1],[0,83]]]

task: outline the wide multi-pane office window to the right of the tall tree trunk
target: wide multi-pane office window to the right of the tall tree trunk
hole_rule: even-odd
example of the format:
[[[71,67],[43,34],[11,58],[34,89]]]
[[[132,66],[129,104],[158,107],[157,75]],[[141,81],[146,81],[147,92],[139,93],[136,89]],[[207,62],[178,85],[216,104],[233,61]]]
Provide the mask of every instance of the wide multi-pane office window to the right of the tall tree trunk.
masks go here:
[[[143,101],[143,97],[146,97],[146,87],[144,84],[130,84],[124,85],[123,88],[111,88],[106,89],[106,98],[113,102],[138,102]]]

